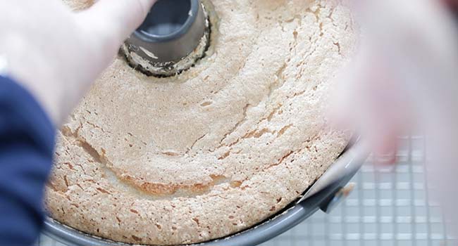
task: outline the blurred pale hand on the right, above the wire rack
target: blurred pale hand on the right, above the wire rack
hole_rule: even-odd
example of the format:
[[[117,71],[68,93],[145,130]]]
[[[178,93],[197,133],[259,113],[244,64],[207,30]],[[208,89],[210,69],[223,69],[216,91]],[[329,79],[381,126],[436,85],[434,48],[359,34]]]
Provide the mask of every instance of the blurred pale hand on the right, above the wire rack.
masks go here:
[[[369,139],[379,163],[392,163],[397,136],[445,129],[457,111],[458,27],[440,1],[356,1],[354,8],[363,37],[337,78],[333,115]]]

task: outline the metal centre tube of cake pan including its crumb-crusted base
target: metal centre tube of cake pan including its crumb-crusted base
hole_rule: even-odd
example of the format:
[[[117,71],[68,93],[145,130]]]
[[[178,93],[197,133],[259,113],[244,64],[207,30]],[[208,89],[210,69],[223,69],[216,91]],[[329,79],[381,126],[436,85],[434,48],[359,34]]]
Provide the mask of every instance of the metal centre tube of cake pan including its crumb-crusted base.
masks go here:
[[[209,15],[200,0],[161,0],[121,51],[144,74],[168,77],[202,58],[209,39]]]

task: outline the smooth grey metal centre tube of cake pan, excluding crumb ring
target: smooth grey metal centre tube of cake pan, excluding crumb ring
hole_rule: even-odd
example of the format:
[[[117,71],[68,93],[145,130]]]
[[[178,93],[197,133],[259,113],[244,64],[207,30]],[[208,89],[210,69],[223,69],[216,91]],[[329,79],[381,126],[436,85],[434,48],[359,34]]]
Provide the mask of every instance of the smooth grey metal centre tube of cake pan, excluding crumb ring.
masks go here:
[[[154,58],[138,51],[140,56],[153,63],[177,62],[194,51],[204,36],[202,8],[199,0],[158,1],[127,42],[132,47],[143,47],[153,53]]]

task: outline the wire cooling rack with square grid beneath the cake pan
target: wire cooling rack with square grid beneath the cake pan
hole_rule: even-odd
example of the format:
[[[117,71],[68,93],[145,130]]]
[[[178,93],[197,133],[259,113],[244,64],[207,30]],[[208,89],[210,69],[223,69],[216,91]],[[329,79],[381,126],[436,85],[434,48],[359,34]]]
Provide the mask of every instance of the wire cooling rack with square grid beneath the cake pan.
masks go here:
[[[400,138],[394,168],[374,169],[369,157],[352,180],[354,191],[333,212],[317,212],[261,246],[457,245],[440,207],[428,201],[425,153],[423,137]],[[44,235],[38,245],[65,246]]]

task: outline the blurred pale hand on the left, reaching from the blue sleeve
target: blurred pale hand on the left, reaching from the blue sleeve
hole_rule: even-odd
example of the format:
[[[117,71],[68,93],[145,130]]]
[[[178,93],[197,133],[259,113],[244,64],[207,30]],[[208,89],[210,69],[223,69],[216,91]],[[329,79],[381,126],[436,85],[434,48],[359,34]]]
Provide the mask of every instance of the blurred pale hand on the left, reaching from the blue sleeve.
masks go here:
[[[60,125],[155,1],[100,0],[73,13],[61,0],[0,0],[0,58]]]

